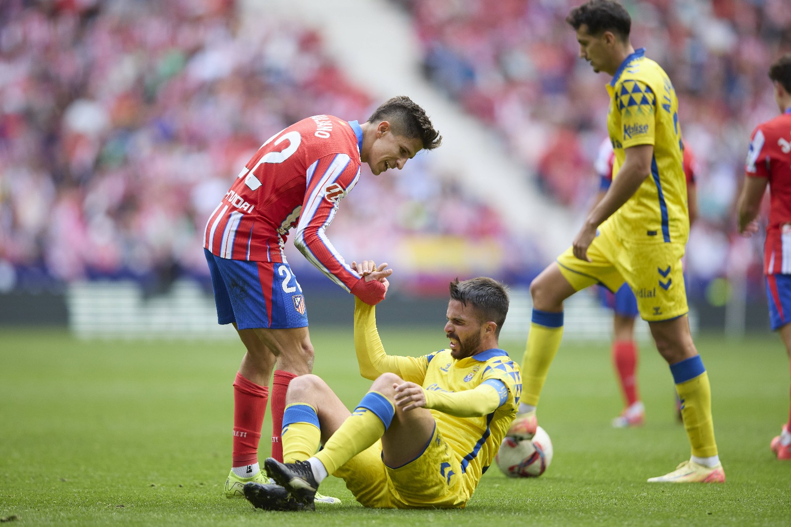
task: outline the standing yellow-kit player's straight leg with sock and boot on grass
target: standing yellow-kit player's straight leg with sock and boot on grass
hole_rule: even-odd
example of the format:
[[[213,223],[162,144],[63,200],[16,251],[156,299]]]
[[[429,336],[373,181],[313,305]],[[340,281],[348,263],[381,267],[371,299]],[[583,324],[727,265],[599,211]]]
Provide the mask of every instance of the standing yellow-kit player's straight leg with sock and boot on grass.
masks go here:
[[[670,365],[681,400],[684,428],[692,447],[690,461],[675,471],[650,478],[658,483],[723,483],[725,471],[717,455],[711,418],[709,375],[692,342],[687,317],[649,323],[657,350]]]

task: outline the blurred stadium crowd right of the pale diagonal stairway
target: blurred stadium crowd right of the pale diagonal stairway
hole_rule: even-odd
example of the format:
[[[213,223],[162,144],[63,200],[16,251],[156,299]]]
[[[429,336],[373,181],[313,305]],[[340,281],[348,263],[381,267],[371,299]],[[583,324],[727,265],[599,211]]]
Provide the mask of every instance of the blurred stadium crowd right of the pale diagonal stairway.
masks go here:
[[[543,191],[587,210],[592,165],[607,136],[607,75],[578,58],[566,24],[579,0],[399,0],[413,17],[426,73],[490,124]],[[623,2],[631,40],[668,72],[683,135],[698,159],[700,215],[687,246],[688,286],[745,270],[760,289],[763,237],[736,235],[734,207],[748,138],[777,115],[766,77],[791,49],[787,0]],[[751,247],[751,245],[753,247]]]

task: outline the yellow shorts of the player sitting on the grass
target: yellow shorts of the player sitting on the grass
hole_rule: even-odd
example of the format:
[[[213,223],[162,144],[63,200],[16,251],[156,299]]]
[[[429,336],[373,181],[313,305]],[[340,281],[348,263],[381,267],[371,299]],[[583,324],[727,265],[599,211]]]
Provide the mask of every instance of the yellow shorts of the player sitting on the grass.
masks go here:
[[[365,507],[463,508],[470,499],[464,490],[460,462],[436,426],[423,453],[403,466],[385,465],[382,444],[377,441],[352,457],[333,476],[343,478],[346,488]]]

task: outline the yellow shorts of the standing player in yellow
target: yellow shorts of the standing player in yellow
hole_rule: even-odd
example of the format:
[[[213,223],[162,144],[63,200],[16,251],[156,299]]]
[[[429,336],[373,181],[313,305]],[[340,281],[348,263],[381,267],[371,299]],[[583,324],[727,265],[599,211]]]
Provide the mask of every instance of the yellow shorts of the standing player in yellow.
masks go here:
[[[607,225],[588,248],[592,260],[578,260],[572,248],[558,256],[560,272],[577,291],[601,283],[611,291],[629,284],[643,320],[660,322],[687,314],[681,259],[684,244],[635,243],[618,237]]]

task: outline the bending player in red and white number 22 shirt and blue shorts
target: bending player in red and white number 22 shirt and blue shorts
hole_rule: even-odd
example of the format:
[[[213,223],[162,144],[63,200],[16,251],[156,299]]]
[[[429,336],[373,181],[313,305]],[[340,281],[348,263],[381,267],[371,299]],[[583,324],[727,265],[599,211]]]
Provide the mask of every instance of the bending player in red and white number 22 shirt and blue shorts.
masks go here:
[[[233,324],[247,348],[233,382],[229,498],[244,497],[248,481],[265,481],[258,445],[272,370],[272,457],[281,461],[286,389],[293,377],[312,370],[305,298],[283,254],[290,229],[296,227],[294,245],[329,279],[366,304],[377,304],[385,287],[373,277],[392,271],[383,267],[361,276],[325,230],[357,183],[361,163],[375,175],[402,169],[441,139],[409,97],[388,100],[361,124],[335,116],[302,119],[263,143],[206,222],[203,247],[218,322]]]

